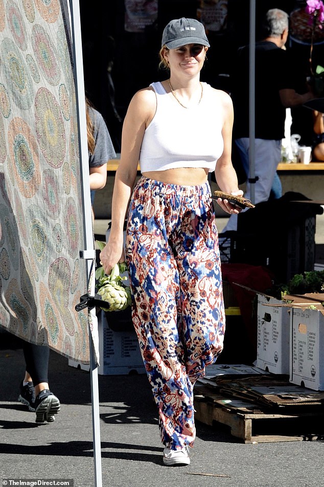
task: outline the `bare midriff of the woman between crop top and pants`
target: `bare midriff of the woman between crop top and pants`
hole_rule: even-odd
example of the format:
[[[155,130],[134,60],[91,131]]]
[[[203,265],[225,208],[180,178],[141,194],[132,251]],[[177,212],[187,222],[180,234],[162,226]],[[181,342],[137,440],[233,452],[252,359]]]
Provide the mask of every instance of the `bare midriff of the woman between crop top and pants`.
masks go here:
[[[166,171],[147,171],[143,176],[166,184],[181,186],[197,186],[207,181],[208,169],[204,168],[175,168]]]

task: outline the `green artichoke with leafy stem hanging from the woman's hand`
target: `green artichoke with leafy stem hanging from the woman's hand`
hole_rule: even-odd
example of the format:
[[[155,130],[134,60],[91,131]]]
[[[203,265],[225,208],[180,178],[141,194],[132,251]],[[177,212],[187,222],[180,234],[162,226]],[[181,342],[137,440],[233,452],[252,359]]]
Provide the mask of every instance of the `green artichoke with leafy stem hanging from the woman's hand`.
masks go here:
[[[97,242],[100,248],[105,245],[104,242]],[[97,292],[102,299],[109,303],[109,308],[103,308],[104,311],[121,311],[131,305],[131,291],[129,286],[125,286],[123,281],[127,280],[122,276],[127,271],[125,262],[115,264],[109,275],[105,274],[103,267],[96,269]]]

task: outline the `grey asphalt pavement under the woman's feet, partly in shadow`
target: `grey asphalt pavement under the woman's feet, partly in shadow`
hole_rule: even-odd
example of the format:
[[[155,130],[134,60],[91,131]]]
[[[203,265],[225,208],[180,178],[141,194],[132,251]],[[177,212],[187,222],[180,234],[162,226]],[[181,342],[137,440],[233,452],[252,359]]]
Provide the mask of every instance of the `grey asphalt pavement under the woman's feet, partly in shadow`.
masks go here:
[[[61,411],[54,423],[36,424],[35,413],[17,401],[25,368],[21,343],[3,333],[0,367],[0,482],[33,485],[26,482],[34,479],[34,485],[41,485],[39,480],[73,479],[74,487],[95,486],[89,373],[51,352],[50,387]],[[191,464],[163,466],[157,413],[145,374],[99,376],[99,400],[106,487],[324,485],[321,441],[244,444],[220,426],[199,422]]]

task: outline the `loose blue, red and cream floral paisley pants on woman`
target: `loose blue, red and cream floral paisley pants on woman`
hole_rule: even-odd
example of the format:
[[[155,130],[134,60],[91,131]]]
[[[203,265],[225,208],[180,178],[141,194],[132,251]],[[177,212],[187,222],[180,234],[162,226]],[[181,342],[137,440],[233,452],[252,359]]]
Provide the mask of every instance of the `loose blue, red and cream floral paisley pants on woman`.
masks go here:
[[[133,323],[159,411],[162,443],[193,446],[193,385],[223,347],[225,313],[209,183],[134,188],[126,256]]]

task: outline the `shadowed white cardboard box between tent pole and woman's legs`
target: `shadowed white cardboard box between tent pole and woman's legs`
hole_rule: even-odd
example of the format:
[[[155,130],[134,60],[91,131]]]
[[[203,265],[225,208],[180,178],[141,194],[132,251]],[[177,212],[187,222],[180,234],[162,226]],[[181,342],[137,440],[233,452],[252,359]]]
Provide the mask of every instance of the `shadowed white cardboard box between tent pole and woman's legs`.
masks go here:
[[[99,375],[145,374],[140,346],[135,331],[118,332],[109,328],[104,312],[98,316],[99,327]],[[68,365],[89,370],[88,364],[69,359]]]

